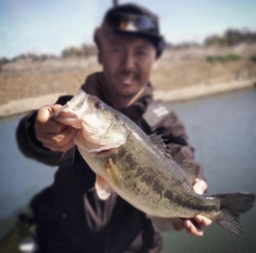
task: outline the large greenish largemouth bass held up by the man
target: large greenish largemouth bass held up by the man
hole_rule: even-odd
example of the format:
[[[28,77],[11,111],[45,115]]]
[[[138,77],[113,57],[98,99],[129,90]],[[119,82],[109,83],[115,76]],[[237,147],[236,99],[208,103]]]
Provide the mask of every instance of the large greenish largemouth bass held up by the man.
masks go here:
[[[150,216],[161,231],[179,226],[180,218],[203,215],[242,234],[239,216],[252,207],[253,194],[197,194],[191,190],[197,166],[176,163],[160,136],[147,136],[97,97],[79,90],[51,118],[79,129],[73,141],[97,175],[95,187],[101,199],[115,191]]]

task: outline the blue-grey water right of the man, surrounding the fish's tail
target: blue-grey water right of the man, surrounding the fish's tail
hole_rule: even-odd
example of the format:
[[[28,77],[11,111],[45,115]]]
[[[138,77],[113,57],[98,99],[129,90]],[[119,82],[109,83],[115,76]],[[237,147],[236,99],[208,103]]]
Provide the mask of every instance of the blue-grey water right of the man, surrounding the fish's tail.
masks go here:
[[[203,164],[208,194],[256,194],[256,90],[168,104],[183,121],[195,159]],[[164,253],[252,253],[256,248],[256,206],[241,216],[242,237],[216,224],[202,238],[185,232],[164,234]]]

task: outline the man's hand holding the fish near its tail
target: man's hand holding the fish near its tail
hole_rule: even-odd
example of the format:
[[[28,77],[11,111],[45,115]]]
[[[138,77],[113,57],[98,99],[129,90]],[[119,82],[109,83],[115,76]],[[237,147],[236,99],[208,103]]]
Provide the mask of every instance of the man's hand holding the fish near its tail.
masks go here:
[[[205,181],[196,179],[193,190],[198,194],[203,194],[207,189],[207,184]],[[194,219],[184,220],[184,226],[189,235],[195,237],[203,236],[203,227],[209,226],[212,221],[202,215],[197,215]]]

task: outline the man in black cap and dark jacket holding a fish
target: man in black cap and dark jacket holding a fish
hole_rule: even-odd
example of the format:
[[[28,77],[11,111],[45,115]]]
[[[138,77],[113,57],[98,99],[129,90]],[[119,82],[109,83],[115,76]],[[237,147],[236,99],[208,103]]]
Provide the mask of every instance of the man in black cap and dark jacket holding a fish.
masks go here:
[[[134,4],[115,7],[96,30],[95,42],[103,72],[89,76],[82,88],[126,114],[147,134],[163,134],[175,160],[193,162],[181,122],[153,100],[150,75],[164,47],[157,16]],[[17,129],[25,155],[60,166],[53,186],[31,203],[35,217],[40,217],[39,252],[160,252],[161,235],[144,213],[116,194],[106,201],[97,197],[95,174],[72,141],[76,129],[50,119],[69,99],[62,97],[33,112]],[[206,190],[202,170],[193,189],[200,194]],[[203,216],[184,220],[194,236],[202,236],[202,227],[210,224]]]

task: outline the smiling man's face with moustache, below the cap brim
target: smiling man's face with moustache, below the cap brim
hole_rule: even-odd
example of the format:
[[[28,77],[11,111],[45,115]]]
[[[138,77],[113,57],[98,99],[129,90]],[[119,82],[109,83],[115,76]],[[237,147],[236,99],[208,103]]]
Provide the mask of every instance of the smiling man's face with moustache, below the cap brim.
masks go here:
[[[134,35],[109,33],[102,36],[101,63],[110,94],[132,98],[148,81],[156,62],[156,50],[149,41]]]

